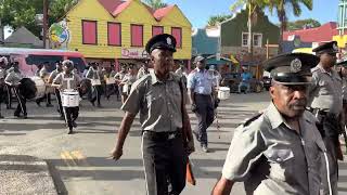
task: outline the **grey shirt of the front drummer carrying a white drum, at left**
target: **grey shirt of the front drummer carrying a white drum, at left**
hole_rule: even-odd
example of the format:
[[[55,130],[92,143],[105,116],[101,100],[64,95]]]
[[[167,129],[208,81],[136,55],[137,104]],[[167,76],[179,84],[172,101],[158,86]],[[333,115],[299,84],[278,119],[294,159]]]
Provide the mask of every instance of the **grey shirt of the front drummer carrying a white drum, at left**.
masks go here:
[[[53,80],[54,84],[62,84],[62,88],[60,89],[61,91],[64,90],[77,90],[78,86],[80,82],[80,78],[76,74],[65,74],[61,73],[59,74],[55,79]]]

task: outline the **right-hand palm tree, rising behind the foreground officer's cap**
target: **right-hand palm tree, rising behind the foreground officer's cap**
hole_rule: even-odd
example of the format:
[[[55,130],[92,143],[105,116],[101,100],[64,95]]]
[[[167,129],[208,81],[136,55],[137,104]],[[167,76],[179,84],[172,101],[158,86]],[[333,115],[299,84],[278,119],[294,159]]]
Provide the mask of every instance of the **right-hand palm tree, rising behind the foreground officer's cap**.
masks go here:
[[[270,12],[272,13],[273,10],[275,10],[281,23],[279,52],[282,52],[281,43],[283,41],[283,32],[287,27],[287,13],[290,11],[288,8],[291,8],[295,16],[300,16],[303,12],[300,6],[301,4],[304,4],[308,10],[312,10],[313,8],[312,0],[267,0],[267,6],[269,8]]]

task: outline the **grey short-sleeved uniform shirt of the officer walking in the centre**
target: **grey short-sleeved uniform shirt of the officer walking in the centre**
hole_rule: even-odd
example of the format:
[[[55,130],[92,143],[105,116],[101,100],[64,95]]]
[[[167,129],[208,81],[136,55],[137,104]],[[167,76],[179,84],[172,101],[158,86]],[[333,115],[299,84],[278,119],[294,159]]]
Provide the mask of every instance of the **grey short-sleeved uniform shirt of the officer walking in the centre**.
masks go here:
[[[170,73],[168,80],[160,81],[154,72],[137,80],[121,106],[131,114],[140,112],[142,130],[174,132],[182,128],[180,78]],[[185,90],[183,90],[185,95]],[[184,99],[185,100],[185,99]]]

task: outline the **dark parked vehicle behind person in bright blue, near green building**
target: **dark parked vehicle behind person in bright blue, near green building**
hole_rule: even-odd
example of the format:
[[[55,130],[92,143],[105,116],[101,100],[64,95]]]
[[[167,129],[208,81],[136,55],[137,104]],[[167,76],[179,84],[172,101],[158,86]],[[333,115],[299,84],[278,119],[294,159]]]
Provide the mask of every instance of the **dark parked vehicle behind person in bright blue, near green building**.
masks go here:
[[[231,93],[239,92],[239,84],[241,82],[241,74],[240,73],[228,73],[222,75],[221,86],[229,87]],[[252,78],[249,80],[250,83],[250,92],[259,93],[262,91],[264,84],[261,81],[256,78]]]

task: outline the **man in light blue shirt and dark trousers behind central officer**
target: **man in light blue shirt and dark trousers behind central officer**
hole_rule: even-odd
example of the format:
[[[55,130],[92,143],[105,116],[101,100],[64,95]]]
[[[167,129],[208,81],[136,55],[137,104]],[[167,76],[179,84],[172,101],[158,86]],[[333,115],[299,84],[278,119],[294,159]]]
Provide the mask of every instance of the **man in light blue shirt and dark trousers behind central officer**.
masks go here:
[[[205,69],[206,60],[203,56],[196,56],[194,60],[196,68],[188,76],[188,91],[192,103],[192,112],[197,118],[197,126],[193,130],[196,140],[202,150],[208,153],[207,129],[215,119],[215,79],[214,75]]]

